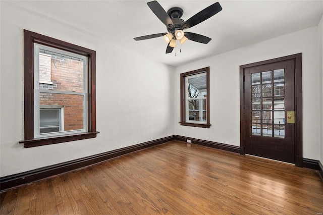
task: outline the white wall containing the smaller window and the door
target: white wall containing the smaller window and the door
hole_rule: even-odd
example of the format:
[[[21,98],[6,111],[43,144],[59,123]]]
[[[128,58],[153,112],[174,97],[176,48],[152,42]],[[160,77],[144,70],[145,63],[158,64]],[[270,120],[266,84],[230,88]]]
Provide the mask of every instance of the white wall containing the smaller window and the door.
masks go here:
[[[303,157],[319,159],[320,90],[318,28],[312,27],[254,45],[236,49],[176,68],[175,133],[192,138],[240,145],[239,66],[302,52],[303,81]],[[210,67],[209,129],[181,126],[180,73]]]

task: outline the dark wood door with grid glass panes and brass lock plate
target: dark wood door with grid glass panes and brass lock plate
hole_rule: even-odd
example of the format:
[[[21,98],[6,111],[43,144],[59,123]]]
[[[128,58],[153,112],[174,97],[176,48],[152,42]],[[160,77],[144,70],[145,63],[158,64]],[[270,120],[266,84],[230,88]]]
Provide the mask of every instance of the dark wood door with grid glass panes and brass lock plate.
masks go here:
[[[244,152],[295,163],[294,61],[244,69]]]

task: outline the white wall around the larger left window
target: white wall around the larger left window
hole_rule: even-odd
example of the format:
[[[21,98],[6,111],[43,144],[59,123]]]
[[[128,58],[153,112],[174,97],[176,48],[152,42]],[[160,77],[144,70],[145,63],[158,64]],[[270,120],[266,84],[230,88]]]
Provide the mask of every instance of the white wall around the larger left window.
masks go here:
[[[9,2],[1,4],[0,24],[1,177],[174,134],[169,99],[174,68]],[[18,143],[24,138],[23,29],[96,50],[96,138],[33,148]]]

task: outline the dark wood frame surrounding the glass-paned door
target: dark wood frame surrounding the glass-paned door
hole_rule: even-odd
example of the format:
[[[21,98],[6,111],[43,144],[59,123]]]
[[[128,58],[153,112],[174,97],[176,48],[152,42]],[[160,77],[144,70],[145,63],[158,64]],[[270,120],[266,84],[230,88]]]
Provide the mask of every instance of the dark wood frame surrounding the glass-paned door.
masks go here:
[[[271,60],[251,63],[240,66],[240,154],[245,154],[245,114],[244,114],[244,71],[247,68],[278,63],[283,61],[294,61],[294,73],[295,73],[295,166],[303,166],[303,128],[302,128],[302,118],[303,118],[303,107],[302,107],[302,53],[297,53],[295,55],[285,56],[281,58],[275,58]]]

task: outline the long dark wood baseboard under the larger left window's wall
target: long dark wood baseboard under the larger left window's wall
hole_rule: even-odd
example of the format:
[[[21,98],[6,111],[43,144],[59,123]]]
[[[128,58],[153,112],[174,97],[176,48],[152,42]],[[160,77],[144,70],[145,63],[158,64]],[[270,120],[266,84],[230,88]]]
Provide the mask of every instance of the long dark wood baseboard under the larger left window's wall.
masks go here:
[[[47,166],[47,167],[43,167],[43,168],[39,168],[39,169],[35,169],[35,170],[23,172],[23,173],[18,173],[10,176],[4,176],[0,178],[0,192],[4,192],[14,187],[39,181],[62,173],[74,171],[100,162],[104,162],[105,160],[109,160],[121,155],[125,155],[141,149],[149,148],[155,145],[163,144],[172,140],[175,140],[175,136],[160,138],[157,140],[152,140],[152,141],[140,143],[137,145],[128,146],[125,148],[120,148],[120,149],[116,149],[116,150],[112,150],[112,151],[108,151],[100,154],[95,154],[95,155],[71,160],[69,162],[51,165],[51,166]]]

